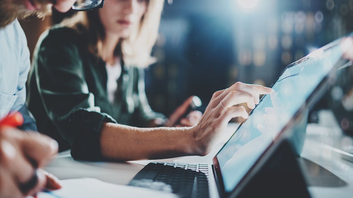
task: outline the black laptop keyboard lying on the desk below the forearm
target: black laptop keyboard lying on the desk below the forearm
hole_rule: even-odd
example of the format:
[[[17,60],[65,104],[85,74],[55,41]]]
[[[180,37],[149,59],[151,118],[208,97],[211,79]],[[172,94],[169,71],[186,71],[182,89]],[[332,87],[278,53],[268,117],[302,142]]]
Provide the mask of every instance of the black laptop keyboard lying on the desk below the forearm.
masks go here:
[[[207,164],[149,163],[128,185],[152,188],[185,198],[209,197]]]

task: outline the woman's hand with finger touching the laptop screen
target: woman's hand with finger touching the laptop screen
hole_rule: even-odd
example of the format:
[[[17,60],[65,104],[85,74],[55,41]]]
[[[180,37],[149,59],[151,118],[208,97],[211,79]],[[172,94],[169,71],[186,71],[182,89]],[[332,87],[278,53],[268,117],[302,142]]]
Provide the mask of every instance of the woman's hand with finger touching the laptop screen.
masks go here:
[[[228,89],[215,92],[201,120],[192,128],[195,139],[192,144],[195,148],[192,150],[197,155],[207,155],[226,129],[229,120],[249,117],[243,106],[234,105],[246,103],[250,109],[254,109],[259,104],[259,95],[271,91],[273,89],[268,87],[237,82]]]

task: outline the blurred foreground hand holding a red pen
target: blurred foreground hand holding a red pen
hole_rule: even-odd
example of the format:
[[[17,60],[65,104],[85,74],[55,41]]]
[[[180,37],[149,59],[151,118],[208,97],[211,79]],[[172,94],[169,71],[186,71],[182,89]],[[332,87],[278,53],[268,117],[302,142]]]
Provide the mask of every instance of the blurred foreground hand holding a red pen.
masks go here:
[[[39,133],[26,134],[15,127],[23,123],[20,113],[0,120],[0,197],[34,196],[46,188],[60,188],[58,180],[43,171],[58,151],[58,143]]]

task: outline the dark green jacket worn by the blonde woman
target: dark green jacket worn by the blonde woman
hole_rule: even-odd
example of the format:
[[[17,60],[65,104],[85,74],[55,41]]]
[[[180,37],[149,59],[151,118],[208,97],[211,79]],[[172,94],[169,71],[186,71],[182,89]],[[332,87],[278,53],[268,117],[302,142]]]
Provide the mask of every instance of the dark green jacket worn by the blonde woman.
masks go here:
[[[30,74],[29,109],[38,131],[71,148],[74,159],[102,160],[103,122],[145,126],[157,117],[151,110],[144,70],[122,62],[114,104],[107,96],[106,63],[88,51],[87,39],[68,27],[54,26],[40,37]]]

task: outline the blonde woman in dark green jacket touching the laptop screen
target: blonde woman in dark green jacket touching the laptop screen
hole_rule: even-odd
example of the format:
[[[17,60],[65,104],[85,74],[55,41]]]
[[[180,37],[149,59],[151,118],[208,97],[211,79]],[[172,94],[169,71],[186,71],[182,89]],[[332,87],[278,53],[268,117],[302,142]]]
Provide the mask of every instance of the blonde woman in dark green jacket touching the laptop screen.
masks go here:
[[[71,148],[75,159],[84,160],[205,155],[229,119],[248,116],[234,104],[247,102],[253,108],[259,94],[271,91],[236,83],[215,93],[199,122],[197,112],[184,120],[186,128],[123,125],[156,126],[164,119],[150,109],[137,68],[154,61],[150,52],[162,7],[163,0],[106,0],[102,9],[79,13],[41,36],[29,108],[38,131],[58,140],[60,150]],[[190,100],[175,115],[182,115]],[[167,126],[180,117],[175,115]]]

